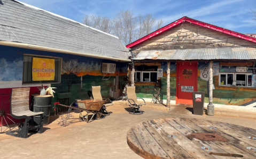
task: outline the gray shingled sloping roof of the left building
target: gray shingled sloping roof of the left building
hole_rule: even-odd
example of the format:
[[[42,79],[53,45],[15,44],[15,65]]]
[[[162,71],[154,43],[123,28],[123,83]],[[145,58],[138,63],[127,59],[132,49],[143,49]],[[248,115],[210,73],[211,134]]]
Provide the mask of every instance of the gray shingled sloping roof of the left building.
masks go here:
[[[115,36],[12,0],[0,1],[0,40],[124,59],[130,55]]]

